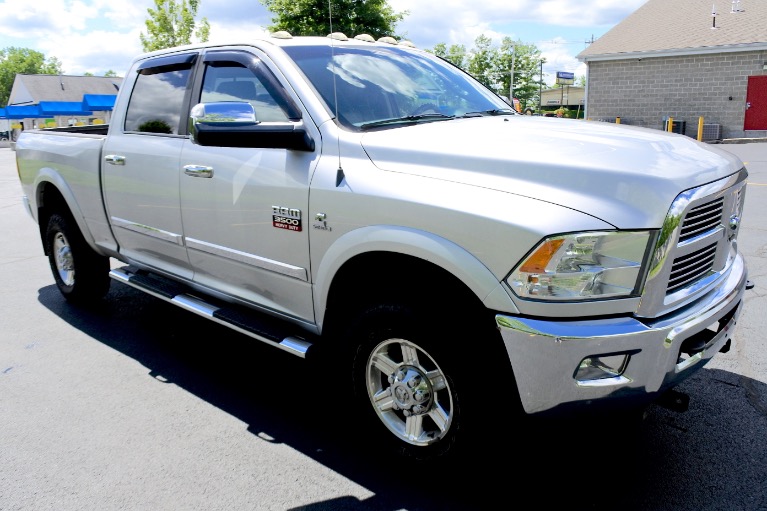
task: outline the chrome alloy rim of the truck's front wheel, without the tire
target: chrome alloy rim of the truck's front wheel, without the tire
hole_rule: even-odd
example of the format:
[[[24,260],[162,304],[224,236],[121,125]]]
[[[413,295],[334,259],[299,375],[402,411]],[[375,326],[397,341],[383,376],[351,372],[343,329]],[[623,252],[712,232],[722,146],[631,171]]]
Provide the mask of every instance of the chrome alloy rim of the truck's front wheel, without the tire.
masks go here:
[[[400,440],[429,445],[445,435],[453,419],[450,387],[434,359],[404,339],[388,339],[370,354],[368,396],[378,418]]]

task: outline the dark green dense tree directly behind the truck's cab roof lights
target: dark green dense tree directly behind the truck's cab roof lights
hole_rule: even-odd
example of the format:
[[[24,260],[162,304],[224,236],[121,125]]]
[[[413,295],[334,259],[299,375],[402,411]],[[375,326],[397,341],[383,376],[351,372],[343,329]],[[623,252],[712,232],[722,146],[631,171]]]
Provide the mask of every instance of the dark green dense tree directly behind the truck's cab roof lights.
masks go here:
[[[261,0],[261,3],[274,14],[270,31],[285,30],[302,36],[343,32],[348,37],[369,34],[375,39],[401,38],[395,35],[395,28],[407,15],[407,11],[395,13],[386,0]]]

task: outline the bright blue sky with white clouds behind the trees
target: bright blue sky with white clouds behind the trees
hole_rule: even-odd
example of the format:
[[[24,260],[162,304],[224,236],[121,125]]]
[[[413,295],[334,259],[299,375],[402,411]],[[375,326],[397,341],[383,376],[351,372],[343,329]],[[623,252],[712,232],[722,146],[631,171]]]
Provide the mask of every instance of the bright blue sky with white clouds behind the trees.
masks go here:
[[[437,43],[471,49],[480,34],[535,44],[546,58],[544,80],[557,71],[585,74],[575,57],[646,0],[389,0],[409,14],[397,25],[419,48]],[[139,34],[153,0],[0,0],[0,48],[31,48],[56,57],[65,74],[122,76],[141,53]],[[211,25],[213,42],[245,42],[265,32],[271,13],[259,0],[200,0],[197,17]],[[348,34],[354,35],[354,34]]]

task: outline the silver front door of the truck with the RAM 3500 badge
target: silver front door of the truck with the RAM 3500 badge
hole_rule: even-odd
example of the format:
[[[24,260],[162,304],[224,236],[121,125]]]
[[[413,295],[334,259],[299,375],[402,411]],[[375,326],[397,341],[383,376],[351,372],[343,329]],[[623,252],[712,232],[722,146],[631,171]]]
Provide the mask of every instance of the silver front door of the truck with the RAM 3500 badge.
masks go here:
[[[247,101],[263,125],[303,122],[284,79],[255,49],[210,50],[199,69],[193,103]],[[307,214],[318,157],[319,151],[187,141],[182,222],[196,283],[314,321]]]

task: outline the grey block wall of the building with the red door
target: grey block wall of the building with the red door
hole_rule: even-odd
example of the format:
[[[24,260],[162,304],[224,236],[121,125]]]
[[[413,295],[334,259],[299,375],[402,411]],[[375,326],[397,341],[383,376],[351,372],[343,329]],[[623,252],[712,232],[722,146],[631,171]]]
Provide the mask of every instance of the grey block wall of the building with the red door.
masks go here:
[[[586,116],[655,129],[670,116],[691,137],[703,116],[722,138],[764,137],[743,122],[748,77],[767,74],[765,62],[767,51],[589,62]]]

